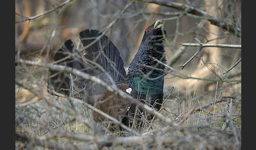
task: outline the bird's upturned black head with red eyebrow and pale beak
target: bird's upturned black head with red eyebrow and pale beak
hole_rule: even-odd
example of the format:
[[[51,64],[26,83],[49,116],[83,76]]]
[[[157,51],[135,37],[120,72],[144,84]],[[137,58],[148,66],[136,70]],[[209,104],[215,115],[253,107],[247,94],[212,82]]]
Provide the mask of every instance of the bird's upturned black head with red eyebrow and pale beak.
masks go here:
[[[166,35],[166,31],[162,30],[162,27],[163,22],[160,20],[156,20],[153,25],[146,27],[142,42],[162,42],[163,34]]]

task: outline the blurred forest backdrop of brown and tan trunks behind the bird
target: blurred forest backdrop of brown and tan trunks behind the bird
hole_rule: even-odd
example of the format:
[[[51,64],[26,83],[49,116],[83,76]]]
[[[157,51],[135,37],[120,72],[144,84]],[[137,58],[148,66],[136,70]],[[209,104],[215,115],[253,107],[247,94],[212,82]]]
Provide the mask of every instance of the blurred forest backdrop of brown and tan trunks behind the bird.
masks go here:
[[[15,20],[36,16],[46,12],[65,1],[15,1]],[[61,9],[43,15],[34,20],[15,24],[15,52],[24,59],[37,59],[51,62],[52,56],[67,39],[78,42],[78,33],[84,29],[104,30],[130,1],[72,1]],[[173,1],[191,5],[209,13],[211,16],[223,19],[241,28],[240,1]],[[107,32],[107,36],[120,50],[125,66],[129,66],[140,46],[144,29],[157,19],[165,20],[164,29],[168,33],[165,42],[166,59],[181,47],[182,43],[214,43],[241,44],[241,38],[212,25],[199,16],[182,14],[180,10],[168,6],[138,2],[129,7],[124,15]],[[53,34],[54,33],[54,34]],[[197,40],[196,40],[197,39]],[[42,50],[43,49],[43,50]],[[186,47],[182,55],[172,67],[181,70],[199,47]],[[46,56],[47,55],[47,56]],[[209,62],[212,70],[226,71],[241,58],[241,49],[232,48],[203,48],[188,65],[182,69],[193,77],[209,77],[215,74],[202,65]],[[215,65],[214,65],[215,63]],[[216,65],[218,64],[218,65]],[[223,69],[222,69],[223,68]],[[241,63],[234,69],[241,71]],[[216,71],[216,70],[215,70]],[[167,78],[167,77],[166,77]],[[166,79],[165,83],[186,88],[208,86],[200,80]],[[208,83],[208,82],[206,82]],[[206,84],[205,83],[205,84]],[[189,87],[188,87],[189,86]]]

